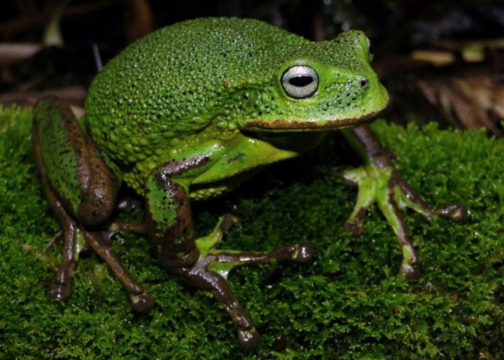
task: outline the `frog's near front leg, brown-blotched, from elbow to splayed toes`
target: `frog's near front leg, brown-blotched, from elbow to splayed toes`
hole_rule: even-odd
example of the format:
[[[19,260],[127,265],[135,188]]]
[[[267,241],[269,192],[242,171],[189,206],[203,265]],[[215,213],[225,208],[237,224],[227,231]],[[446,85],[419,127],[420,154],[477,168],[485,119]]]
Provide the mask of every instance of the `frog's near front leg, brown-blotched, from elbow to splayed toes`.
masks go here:
[[[190,285],[212,292],[231,316],[242,347],[253,348],[259,344],[260,335],[238,304],[227,274],[234,266],[244,264],[286,259],[305,261],[312,257],[312,248],[309,244],[294,244],[268,253],[215,250],[223,230],[233,223],[230,216],[222,218],[210,235],[195,240],[188,185],[181,175],[203,172],[213,162],[212,155],[195,155],[151,170],[145,190],[147,233],[160,263]]]

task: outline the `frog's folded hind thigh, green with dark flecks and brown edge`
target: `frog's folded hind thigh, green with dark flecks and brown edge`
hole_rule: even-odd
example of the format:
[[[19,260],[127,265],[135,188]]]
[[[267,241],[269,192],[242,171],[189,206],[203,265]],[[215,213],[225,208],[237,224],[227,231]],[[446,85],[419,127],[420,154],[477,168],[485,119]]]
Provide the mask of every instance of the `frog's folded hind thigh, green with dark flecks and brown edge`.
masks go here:
[[[86,225],[107,220],[114,210],[118,176],[62,99],[49,96],[36,103],[34,138],[39,167],[45,168],[47,181],[68,214]]]

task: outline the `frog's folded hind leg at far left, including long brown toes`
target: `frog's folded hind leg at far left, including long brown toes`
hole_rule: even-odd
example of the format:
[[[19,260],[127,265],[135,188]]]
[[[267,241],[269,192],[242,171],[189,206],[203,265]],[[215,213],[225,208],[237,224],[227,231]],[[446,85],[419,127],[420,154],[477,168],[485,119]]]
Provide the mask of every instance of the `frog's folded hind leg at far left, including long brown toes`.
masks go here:
[[[92,140],[86,138],[70,107],[57,97],[46,97],[34,107],[33,143],[36,164],[47,200],[63,229],[62,265],[49,295],[66,300],[79,255],[86,242],[123,283],[131,306],[143,311],[153,306],[151,296],[119,261],[101,225],[116,206],[120,182],[105,164]]]

